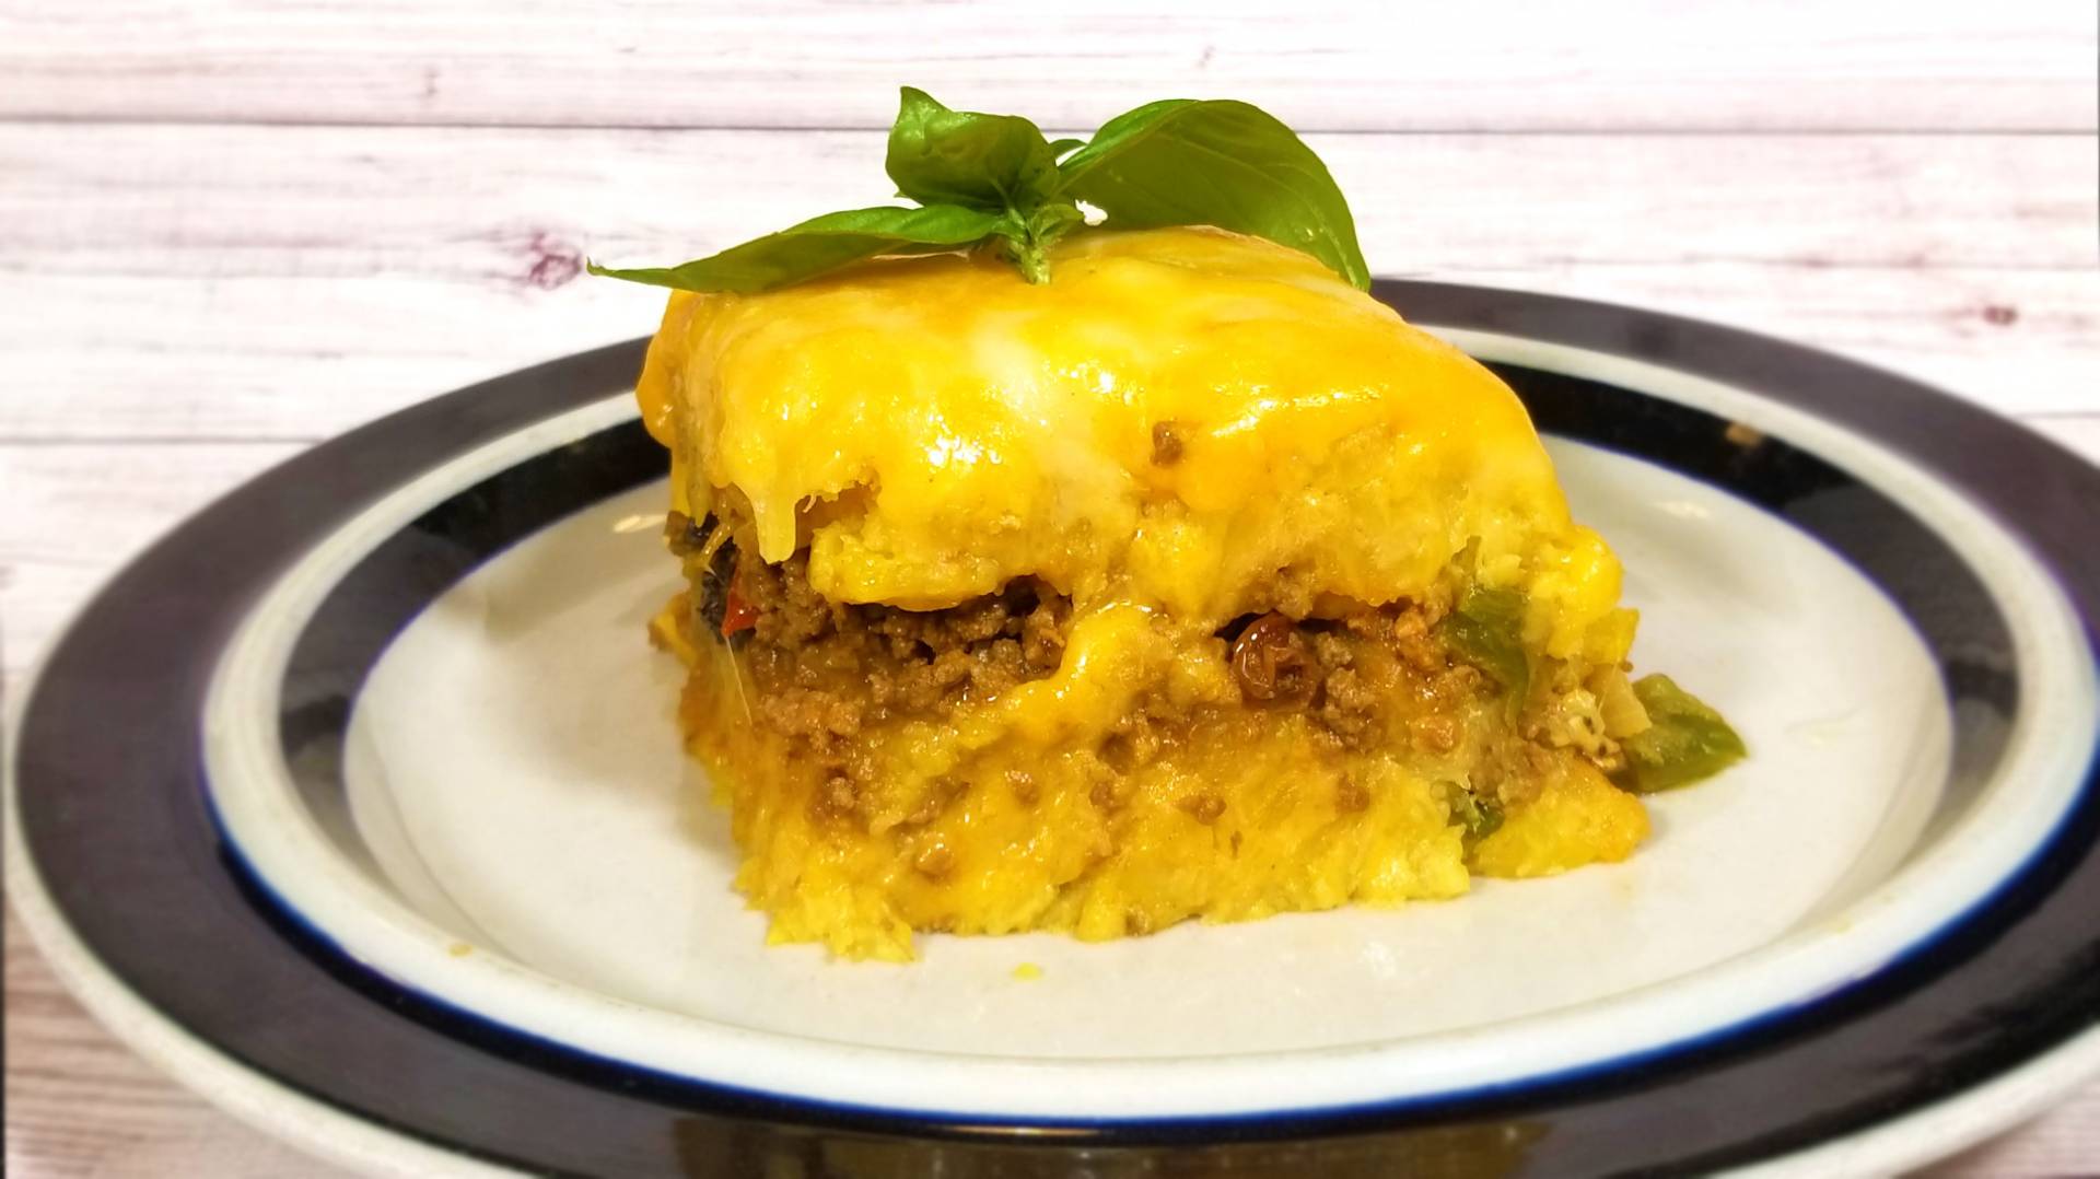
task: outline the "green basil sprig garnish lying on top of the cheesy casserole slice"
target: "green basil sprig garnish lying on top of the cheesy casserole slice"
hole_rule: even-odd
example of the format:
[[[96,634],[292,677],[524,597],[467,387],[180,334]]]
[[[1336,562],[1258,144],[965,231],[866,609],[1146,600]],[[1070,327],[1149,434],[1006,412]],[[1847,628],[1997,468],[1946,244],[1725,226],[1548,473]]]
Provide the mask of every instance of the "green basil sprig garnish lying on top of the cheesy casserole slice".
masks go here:
[[[1357,288],[1371,284],[1327,166],[1247,103],[1149,103],[1102,124],[1092,141],[1052,143],[1021,116],[953,111],[905,86],[884,168],[897,195],[920,208],[827,212],[678,267],[590,263],[590,273],[752,294],[863,258],[995,246],[1040,284],[1050,282],[1050,244],[1086,227],[1086,202],[1109,227],[1216,225],[1304,250]]]

